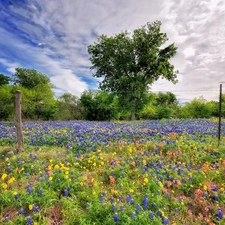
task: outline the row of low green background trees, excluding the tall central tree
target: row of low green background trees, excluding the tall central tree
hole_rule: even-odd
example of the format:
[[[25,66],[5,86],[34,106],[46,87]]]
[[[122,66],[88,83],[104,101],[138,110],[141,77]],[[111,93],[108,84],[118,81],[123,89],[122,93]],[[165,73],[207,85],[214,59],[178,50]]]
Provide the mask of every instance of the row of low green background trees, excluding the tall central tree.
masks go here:
[[[120,96],[106,90],[86,90],[79,97],[65,93],[54,97],[50,79],[36,70],[17,68],[12,78],[0,74],[0,121],[15,116],[15,92],[22,90],[23,120],[130,120],[129,104],[121,104]],[[225,95],[222,95],[225,116]],[[209,118],[219,115],[218,101],[202,96],[180,105],[175,94],[145,92],[136,106],[136,119]]]

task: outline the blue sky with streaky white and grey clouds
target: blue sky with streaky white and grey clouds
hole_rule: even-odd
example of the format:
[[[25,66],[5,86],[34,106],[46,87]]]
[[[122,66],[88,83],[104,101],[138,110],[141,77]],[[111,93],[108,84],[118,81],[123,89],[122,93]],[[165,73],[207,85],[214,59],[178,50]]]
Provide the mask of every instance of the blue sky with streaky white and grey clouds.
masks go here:
[[[56,96],[98,88],[87,47],[98,36],[162,22],[178,47],[171,63],[176,85],[160,79],[153,92],[170,91],[180,102],[218,100],[225,86],[224,0],[0,0],[0,73],[35,69],[55,85]]]

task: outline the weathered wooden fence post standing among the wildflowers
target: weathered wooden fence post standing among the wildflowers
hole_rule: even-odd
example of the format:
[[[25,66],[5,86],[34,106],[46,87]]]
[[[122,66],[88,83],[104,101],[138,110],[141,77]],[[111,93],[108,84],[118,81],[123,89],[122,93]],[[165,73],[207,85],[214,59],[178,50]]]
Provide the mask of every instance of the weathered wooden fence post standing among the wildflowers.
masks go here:
[[[24,148],[21,103],[22,103],[22,91],[16,91],[16,136],[18,143],[18,151],[21,151]]]

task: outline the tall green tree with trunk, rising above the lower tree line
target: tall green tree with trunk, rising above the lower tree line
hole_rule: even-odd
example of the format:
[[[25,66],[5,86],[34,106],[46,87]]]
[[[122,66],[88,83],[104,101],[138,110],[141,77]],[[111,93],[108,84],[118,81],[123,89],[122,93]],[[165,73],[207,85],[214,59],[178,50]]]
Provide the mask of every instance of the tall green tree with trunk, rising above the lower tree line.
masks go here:
[[[100,88],[129,102],[135,119],[137,102],[143,100],[149,85],[161,78],[176,83],[177,71],[170,63],[177,48],[165,47],[167,35],[160,31],[161,22],[147,23],[129,33],[107,37],[101,35],[88,46],[94,77],[103,78]]]

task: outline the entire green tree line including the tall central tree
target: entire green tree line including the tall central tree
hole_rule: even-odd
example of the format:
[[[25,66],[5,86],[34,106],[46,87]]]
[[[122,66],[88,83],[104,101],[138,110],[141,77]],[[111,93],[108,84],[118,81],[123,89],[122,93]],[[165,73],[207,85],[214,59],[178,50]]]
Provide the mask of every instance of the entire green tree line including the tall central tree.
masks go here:
[[[170,60],[174,43],[155,21],[114,36],[101,35],[88,46],[94,77],[102,78],[99,90],[79,97],[65,93],[55,99],[50,79],[36,70],[17,68],[12,79],[0,74],[0,120],[14,117],[15,91],[23,92],[26,120],[135,120],[161,118],[208,118],[218,116],[218,102],[203,97],[180,106],[171,93],[152,93],[159,78],[177,82],[178,71]],[[223,95],[224,105],[224,95]],[[224,106],[223,116],[224,116]]]

